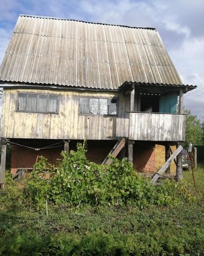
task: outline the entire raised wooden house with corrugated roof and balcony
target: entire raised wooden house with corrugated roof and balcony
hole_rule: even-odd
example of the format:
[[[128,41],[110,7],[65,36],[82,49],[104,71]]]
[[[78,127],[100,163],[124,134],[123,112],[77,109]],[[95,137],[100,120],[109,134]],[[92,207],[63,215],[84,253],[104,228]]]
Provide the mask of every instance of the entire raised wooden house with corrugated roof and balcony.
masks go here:
[[[38,155],[54,163],[84,139],[90,161],[102,163],[119,141],[118,157],[155,172],[157,145],[165,162],[185,140],[183,93],[196,87],[182,84],[154,28],[30,15],[16,23],[0,81],[13,173]]]

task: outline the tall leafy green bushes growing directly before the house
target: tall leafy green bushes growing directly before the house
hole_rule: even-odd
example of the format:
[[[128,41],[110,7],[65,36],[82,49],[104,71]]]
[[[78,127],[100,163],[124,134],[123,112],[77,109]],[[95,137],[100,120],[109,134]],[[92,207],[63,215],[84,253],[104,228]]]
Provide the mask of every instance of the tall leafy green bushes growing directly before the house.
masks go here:
[[[112,158],[111,165],[99,165],[90,163],[85,154],[86,148],[81,143],[78,150],[69,155],[63,151],[57,170],[41,157],[25,187],[25,198],[37,209],[43,209],[46,201],[70,207],[81,204],[118,206],[131,202],[142,209],[149,204],[172,205],[189,199],[184,185],[182,193],[181,186],[170,181],[152,186],[134,171],[127,159]],[[43,177],[46,169],[49,169],[49,179]]]

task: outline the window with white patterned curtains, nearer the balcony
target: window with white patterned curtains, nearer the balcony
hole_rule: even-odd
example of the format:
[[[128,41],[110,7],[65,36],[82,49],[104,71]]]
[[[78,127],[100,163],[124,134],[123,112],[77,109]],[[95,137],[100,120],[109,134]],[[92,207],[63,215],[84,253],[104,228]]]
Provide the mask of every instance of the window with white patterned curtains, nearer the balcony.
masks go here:
[[[117,99],[81,98],[80,114],[117,115]]]

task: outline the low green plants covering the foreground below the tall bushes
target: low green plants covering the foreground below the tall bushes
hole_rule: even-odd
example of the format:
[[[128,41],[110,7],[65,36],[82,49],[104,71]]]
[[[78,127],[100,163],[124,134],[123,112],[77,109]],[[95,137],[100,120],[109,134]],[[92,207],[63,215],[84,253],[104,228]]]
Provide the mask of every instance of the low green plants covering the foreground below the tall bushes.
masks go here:
[[[202,207],[0,213],[0,255],[202,255]]]

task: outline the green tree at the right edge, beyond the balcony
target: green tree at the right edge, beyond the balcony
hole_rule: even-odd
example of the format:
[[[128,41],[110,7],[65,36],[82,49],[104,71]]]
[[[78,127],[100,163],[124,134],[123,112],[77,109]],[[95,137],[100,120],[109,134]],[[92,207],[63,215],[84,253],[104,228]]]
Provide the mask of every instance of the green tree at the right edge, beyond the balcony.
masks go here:
[[[188,148],[190,142],[197,146],[203,145],[204,124],[201,124],[200,119],[196,115],[192,115],[190,110],[186,109],[185,114],[186,122],[184,147]]]

